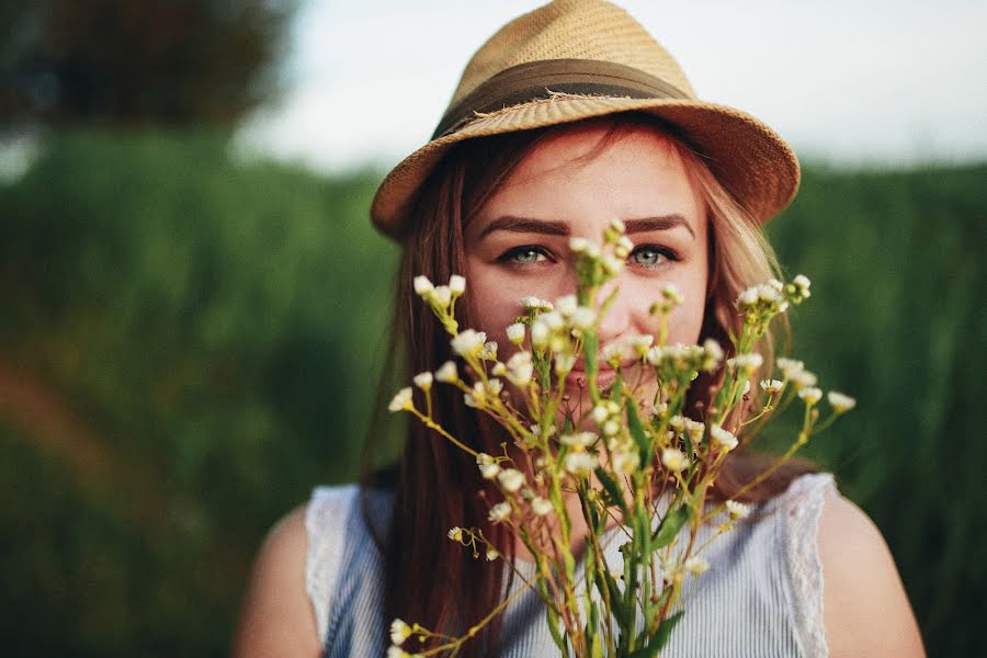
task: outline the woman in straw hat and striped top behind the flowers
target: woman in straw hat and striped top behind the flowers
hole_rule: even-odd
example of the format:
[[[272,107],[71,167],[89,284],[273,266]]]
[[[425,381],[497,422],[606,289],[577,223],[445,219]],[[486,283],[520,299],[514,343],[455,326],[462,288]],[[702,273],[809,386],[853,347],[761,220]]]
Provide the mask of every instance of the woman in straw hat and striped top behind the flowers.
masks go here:
[[[413,297],[415,275],[465,274],[461,326],[509,345],[503,331],[518,299],[572,292],[569,238],[598,240],[614,218],[635,248],[615,281],[621,296],[601,343],[654,333],[647,308],[674,283],[687,303],[670,318],[669,340],[727,344],[737,294],[774,271],[758,227],[787,204],[797,181],[780,137],[747,114],[696,100],[674,60],[622,10],[553,2],[480,48],[433,139],[378,190],[372,217],[404,246],[394,352],[407,353],[409,374],[451,358],[445,333]],[[443,396],[435,416],[444,427],[498,452],[496,427],[452,389],[434,395]],[[715,497],[730,498],[761,468],[753,456],[735,457]],[[522,570],[525,557],[487,521],[479,489],[468,455],[412,423],[393,477],[368,479],[360,491],[319,489],[272,531],[237,654],[378,656],[394,617],[469,627],[503,600],[509,579],[501,561],[474,560],[446,531],[484,527]],[[792,465],[744,499],[758,503],[760,520],[711,548],[722,566],[685,601],[663,655],[923,654],[883,538],[830,476]],[[540,605],[522,598],[465,655],[553,655]]]

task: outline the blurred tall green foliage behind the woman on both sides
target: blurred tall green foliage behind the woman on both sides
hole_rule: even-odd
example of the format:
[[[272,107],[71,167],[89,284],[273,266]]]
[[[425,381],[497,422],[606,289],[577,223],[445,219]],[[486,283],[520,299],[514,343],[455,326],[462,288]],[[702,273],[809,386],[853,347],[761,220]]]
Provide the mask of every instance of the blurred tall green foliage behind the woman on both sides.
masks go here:
[[[794,354],[860,400],[808,454],[884,531],[933,656],[985,649],[985,174],[812,168],[770,226],[814,280]],[[226,650],[264,531],[356,472],[397,257],[377,181],[73,133],[0,188],[10,655]]]

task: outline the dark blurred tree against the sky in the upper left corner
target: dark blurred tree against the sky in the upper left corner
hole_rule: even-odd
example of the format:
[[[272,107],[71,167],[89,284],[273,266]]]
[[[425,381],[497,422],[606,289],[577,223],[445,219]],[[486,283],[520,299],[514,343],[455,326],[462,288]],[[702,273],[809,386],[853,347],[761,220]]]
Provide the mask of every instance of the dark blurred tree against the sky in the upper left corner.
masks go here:
[[[275,90],[294,0],[0,0],[0,126],[230,124]]]

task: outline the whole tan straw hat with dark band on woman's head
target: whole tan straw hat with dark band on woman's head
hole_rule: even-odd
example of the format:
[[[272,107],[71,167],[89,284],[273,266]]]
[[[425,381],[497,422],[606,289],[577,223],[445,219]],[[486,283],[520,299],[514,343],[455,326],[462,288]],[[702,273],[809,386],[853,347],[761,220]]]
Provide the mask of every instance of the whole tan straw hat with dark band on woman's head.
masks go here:
[[[392,237],[405,235],[416,193],[456,143],[632,111],[678,126],[761,223],[795,195],[798,161],[771,128],[696,99],[679,64],[623,9],[556,0],[514,19],[477,50],[431,141],[384,179],[371,218]]]

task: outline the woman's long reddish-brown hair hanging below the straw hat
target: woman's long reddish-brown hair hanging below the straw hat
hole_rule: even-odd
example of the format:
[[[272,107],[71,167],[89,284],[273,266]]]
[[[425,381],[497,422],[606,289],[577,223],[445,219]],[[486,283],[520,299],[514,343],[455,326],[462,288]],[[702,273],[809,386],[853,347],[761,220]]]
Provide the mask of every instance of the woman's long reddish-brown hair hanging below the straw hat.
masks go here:
[[[638,114],[613,115],[590,120],[609,127],[604,137],[587,157],[606,148],[632,127],[645,125],[668,136],[682,158],[692,184],[704,197],[710,220],[710,284],[701,340],[715,338],[728,345],[729,330],[736,331],[739,318],[734,307],[737,294],[752,283],[764,281],[778,266],[770,246],[757,224],[730,197],[710,171],[702,156],[690,148],[688,139],[674,127],[655,117]],[[405,378],[434,370],[452,359],[449,339],[431,311],[411,290],[411,281],[424,274],[432,281],[447,281],[452,274],[466,271],[463,227],[486,201],[497,192],[511,171],[540,144],[566,126],[554,126],[524,133],[477,138],[456,145],[429,180],[422,185],[411,211],[410,234],[405,238],[399,268],[395,321],[390,354],[404,355]],[[475,314],[469,304],[460,308],[461,327],[474,327]],[[770,340],[762,351],[770,350]],[[393,386],[385,373],[384,386]],[[702,418],[704,392],[715,381],[696,382],[693,387],[693,416]],[[392,390],[378,393],[375,413]],[[433,388],[435,420],[453,435],[478,451],[499,452],[503,440],[497,428],[463,404],[453,387]],[[376,451],[377,423],[372,423],[364,464]],[[730,498],[745,484],[763,470],[763,461],[738,455],[728,463],[712,496]],[[760,501],[783,491],[797,475],[812,470],[804,463],[780,469],[759,487],[740,497]],[[423,426],[408,426],[401,457],[387,473],[364,473],[365,490],[385,486],[393,489],[394,513],[381,546],[386,564],[385,614],[418,622],[444,633],[464,633],[503,600],[506,569],[503,563],[475,559],[458,544],[449,541],[453,526],[479,527],[513,558],[513,542],[502,525],[487,519],[488,502],[484,480],[473,458],[452,446]],[[478,495],[479,494],[479,495]],[[367,509],[367,508],[365,508]],[[371,519],[367,522],[373,527]],[[382,633],[384,629],[382,628]],[[466,655],[495,656],[499,644],[499,622],[479,633]]]

